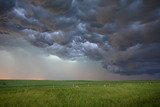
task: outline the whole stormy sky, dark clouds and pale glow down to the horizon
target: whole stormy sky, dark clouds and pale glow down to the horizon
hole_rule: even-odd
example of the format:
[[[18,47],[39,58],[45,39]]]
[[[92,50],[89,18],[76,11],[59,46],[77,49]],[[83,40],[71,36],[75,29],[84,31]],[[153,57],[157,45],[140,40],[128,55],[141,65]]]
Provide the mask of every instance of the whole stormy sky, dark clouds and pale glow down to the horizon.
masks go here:
[[[0,79],[159,80],[160,0],[0,0]]]

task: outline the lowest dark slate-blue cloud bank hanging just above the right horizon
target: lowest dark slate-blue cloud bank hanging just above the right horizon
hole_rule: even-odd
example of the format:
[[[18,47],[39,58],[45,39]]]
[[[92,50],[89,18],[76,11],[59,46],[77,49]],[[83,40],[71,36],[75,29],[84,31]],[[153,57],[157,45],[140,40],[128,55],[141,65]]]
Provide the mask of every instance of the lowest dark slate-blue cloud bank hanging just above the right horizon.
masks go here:
[[[159,48],[159,43],[137,44],[126,51],[117,51],[110,57],[107,56],[104,67],[121,74],[159,73]]]

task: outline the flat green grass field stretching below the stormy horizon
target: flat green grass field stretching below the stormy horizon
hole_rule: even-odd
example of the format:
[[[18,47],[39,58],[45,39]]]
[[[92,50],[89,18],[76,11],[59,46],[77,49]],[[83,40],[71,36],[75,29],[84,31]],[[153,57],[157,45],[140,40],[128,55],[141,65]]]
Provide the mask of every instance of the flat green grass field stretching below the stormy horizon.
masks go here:
[[[0,107],[160,107],[160,81],[0,80]]]

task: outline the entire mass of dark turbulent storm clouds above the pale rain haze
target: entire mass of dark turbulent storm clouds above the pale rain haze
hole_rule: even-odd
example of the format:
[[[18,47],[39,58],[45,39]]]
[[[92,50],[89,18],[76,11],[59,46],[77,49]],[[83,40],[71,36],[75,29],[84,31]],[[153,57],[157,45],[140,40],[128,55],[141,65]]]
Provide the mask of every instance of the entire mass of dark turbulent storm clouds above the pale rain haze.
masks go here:
[[[0,20],[0,45],[23,38],[114,73],[160,73],[159,0],[0,0]]]

